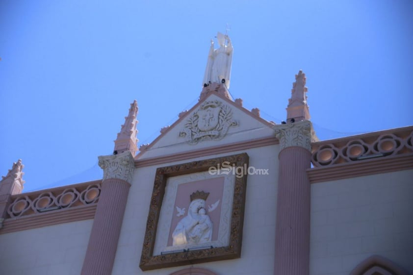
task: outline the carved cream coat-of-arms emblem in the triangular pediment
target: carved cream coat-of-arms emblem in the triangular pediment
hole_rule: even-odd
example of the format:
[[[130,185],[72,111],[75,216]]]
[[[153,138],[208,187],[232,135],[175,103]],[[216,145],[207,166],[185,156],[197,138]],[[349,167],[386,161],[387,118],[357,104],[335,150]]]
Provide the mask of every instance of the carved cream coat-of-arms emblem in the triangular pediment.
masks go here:
[[[237,126],[232,120],[232,110],[221,101],[204,102],[192,114],[180,132],[180,137],[186,137],[189,144],[197,144],[202,140],[220,140],[228,132],[230,126]]]

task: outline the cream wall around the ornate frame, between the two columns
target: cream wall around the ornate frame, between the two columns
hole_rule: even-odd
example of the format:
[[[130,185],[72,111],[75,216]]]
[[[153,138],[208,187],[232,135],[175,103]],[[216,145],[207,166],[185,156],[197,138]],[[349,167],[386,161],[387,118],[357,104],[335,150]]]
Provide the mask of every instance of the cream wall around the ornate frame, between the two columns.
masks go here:
[[[272,275],[274,270],[275,219],[279,146],[234,151],[197,159],[137,168],[130,187],[124,222],[112,275],[168,275],[181,266],[143,273],[139,268],[149,203],[158,167],[246,152],[249,165],[269,169],[270,175],[248,175],[241,259],[197,264],[222,275]]]

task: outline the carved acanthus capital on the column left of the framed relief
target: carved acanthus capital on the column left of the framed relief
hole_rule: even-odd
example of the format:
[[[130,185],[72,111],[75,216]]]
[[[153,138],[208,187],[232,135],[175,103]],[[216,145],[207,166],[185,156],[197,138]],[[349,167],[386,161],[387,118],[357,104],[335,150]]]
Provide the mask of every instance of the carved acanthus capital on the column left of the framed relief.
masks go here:
[[[103,169],[103,180],[119,178],[131,183],[135,162],[130,151],[98,158],[99,166]]]

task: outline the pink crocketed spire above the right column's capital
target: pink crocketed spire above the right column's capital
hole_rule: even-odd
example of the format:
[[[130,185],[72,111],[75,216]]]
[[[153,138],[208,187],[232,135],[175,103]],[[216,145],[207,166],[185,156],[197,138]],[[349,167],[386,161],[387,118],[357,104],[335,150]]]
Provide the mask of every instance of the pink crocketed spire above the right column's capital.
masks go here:
[[[295,82],[292,83],[291,98],[288,100],[287,121],[310,120],[309,106],[307,105],[306,74],[302,70],[295,75]]]

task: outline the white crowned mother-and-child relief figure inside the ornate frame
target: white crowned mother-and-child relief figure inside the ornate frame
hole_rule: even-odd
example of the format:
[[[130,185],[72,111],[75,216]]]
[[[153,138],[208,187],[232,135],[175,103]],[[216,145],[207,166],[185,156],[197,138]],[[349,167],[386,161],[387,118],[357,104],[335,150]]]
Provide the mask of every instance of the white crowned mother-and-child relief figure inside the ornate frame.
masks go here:
[[[194,194],[201,195],[196,198]],[[197,245],[211,241],[212,222],[205,209],[205,200],[209,193],[197,191],[194,194],[191,195],[188,215],[179,221],[172,233],[173,246]]]

